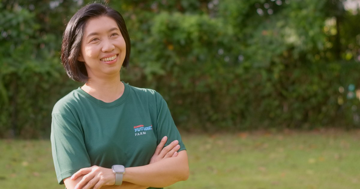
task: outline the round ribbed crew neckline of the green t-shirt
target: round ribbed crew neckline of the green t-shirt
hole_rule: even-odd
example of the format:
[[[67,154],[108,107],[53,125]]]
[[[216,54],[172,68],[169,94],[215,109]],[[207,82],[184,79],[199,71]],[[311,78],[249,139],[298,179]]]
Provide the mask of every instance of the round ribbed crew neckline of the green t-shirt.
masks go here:
[[[99,100],[99,99],[95,98],[94,96],[91,96],[89,93],[86,93],[84,90],[81,89],[81,87],[78,87],[75,91],[77,91],[82,96],[84,96],[86,99],[89,99],[91,102],[95,103],[96,105],[99,105],[101,107],[110,108],[110,107],[114,107],[114,106],[120,105],[123,102],[125,102],[127,96],[129,95],[129,91],[130,91],[129,85],[123,81],[121,81],[121,82],[124,84],[124,93],[118,99],[114,100],[113,102],[104,102],[102,100]]]

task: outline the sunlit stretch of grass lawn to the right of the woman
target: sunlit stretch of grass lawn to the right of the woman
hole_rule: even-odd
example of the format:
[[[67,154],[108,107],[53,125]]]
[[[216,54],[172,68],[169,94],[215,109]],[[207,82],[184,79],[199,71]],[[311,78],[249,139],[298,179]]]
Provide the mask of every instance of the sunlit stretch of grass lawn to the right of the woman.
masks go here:
[[[191,175],[167,189],[356,189],[360,132],[186,135]]]

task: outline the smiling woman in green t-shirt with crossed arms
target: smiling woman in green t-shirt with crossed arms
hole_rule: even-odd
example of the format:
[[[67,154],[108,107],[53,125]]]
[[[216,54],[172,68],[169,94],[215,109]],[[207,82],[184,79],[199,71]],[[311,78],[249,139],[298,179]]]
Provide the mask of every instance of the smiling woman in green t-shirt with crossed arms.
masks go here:
[[[102,4],[78,10],[64,31],[64,68],[85,82],[52,113],[55,171],[67,189],[162,188],[188,178],[186,149],[165,100],[120,80],[129,55],[122,16]]]

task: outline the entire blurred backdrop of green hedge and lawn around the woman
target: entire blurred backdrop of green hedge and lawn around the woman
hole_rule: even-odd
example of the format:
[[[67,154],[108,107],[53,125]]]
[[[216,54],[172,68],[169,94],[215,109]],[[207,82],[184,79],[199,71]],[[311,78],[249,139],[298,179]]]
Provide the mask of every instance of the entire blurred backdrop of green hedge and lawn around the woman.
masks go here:
[[[82,83],[62,33],[90,0],[0,0],[0,188],[57,184],[54,104]],[[360,0],[99,0],[125,18],[121,79],[157,90],[189,154],[167,189],[358,189]]]

